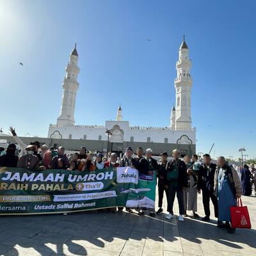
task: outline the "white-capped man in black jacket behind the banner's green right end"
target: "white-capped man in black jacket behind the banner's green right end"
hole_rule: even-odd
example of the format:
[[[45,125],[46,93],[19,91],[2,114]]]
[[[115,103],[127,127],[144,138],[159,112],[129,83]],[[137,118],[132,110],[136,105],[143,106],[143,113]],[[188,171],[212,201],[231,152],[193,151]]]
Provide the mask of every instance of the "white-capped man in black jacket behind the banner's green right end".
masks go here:
[[[145,152],[146,157],[141,158],[138,163],[138,171],[142,174],[154,176],[154,172],[159,169],[156,159],[152,157],[153,152],[151,148],[148,148]],[[150,212],[150,216],[156,217],[156,212]]]

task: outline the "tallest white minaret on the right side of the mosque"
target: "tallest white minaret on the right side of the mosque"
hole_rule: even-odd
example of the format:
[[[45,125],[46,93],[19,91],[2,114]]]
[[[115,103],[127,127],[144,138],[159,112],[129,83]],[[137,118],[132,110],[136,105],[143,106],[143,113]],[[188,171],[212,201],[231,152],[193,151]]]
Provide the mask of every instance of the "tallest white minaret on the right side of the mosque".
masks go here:
[[[175,129],[191,128],[190,89],[193,79],[189,73],[191,60],[188,52],[188,45],[183,36],[179,49],[179,61],[176,63],[177,78],[174,81],[176,89]]]

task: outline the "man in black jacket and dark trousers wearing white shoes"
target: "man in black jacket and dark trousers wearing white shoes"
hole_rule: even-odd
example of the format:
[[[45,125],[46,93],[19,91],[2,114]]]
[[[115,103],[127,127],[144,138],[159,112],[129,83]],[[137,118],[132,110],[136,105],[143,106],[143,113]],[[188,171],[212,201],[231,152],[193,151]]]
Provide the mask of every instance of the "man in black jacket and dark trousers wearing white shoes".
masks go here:
[[[186,164],[179,159],[180,152],[175,149],[172,152],[173,160],[168,161],[166,166],[166,185],[168,186],[168,215],[166,219],[170,220],[173,217],[173,202],[175,194],[179,203],[179,221],[184,221],[184,190],[188,186],[187,168]]]

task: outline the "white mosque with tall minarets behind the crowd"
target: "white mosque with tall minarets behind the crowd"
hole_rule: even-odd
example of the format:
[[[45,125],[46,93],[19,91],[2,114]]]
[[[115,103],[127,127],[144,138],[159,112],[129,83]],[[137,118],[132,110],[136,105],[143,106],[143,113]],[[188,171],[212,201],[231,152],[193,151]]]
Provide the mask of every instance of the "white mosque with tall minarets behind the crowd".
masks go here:
[[[79,88],[77,61],[78,53],[75,45],[65,69],[60,116],[56,124],[49,125],[48,138],[84,140],[85,144],[90,142],[90,145],[95,145],[94,149],[97,150],[104,150],[102,147],[106,147],[100,142],[109,141],[111,150],[120,152],[123,152],[127,145],[131,147],[143,145],[154,148],[157,153],[165,148],[168,152],[171,148],[179,148],[182,154],[195,153],[196,129],[191,127],[190,97],[193,79],[189,72],[191,68],[189,49],[184,38],[179,49],[179,60],[176,63],[177,77],[174,80],[176,104],[170,113],[170,125],[166,122],[166,127],[130,126],[129,121],[123,120],[121,106],[117,109],[115,121],[106,121],[104,125],[76,125],[74,112]]]

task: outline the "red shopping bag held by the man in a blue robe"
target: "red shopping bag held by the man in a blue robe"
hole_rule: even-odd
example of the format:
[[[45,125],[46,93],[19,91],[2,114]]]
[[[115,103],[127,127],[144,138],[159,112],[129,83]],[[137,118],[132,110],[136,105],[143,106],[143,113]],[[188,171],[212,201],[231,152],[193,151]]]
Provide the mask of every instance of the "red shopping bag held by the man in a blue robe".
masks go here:
[[[237,206],[230,207],[232,228],[251,228],[251,221],[247,206],[243,206],[241,198],[237,199]]]

